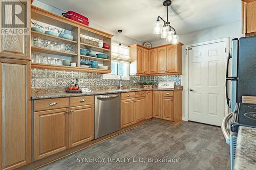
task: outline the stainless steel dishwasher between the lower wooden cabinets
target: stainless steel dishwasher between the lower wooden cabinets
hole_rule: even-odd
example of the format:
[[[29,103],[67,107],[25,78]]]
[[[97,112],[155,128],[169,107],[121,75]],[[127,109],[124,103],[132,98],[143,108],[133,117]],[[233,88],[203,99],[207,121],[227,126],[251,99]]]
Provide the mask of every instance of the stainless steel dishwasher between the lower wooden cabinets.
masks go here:
[[[120,130],[120,93],[95,96],[94,138]]]

